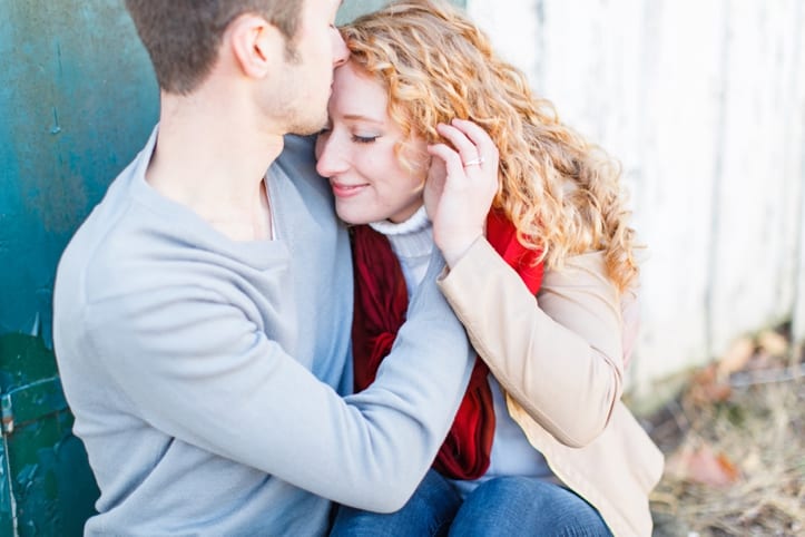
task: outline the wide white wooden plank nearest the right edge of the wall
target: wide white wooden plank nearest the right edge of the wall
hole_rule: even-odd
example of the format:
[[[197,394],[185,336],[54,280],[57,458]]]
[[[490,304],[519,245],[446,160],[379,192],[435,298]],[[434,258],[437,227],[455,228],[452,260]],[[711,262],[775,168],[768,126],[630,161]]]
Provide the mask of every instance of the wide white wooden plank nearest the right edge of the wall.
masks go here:
[[[791,315],[798,235],[798,183],[787,176],[785,165],[795,102],[792,38],[798,21],[791,10],[779,9],[781,3],[729,6],[724,166],[715,206],[710,302],[716,355],[737,334]]]

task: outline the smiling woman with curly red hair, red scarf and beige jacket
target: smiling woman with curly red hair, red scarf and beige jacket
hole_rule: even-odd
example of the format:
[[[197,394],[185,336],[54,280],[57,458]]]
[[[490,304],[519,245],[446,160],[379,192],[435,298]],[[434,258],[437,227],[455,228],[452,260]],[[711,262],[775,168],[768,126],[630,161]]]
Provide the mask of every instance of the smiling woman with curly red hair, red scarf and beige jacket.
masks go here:
[[[316,152],[338,215],[369,224],[354,228],[356,389],[434,243],[483,363],[439,473],[396,514],[342,507],[334,533],[650,535],[662,459],[620,402],[638,266],[618,167],[449,6],[394,2],[343,35]]]

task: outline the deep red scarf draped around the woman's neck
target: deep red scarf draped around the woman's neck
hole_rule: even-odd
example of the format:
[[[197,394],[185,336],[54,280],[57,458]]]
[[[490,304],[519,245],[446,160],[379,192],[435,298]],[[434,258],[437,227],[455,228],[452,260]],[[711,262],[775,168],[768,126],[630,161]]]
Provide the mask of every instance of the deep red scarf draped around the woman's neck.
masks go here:
[[[380,362],[391,351],[396,332],[405,322],[408,292],[400,262],[385,235],[367,225],[352,230],[355,265],[352,343],[355,391],[361,391],[374,381]],[[487,240],[518,272],[531,294],[536,294],[542,281],[542,263],[534,265],[533,261],[540,252],[522,246],[512,223],[494,212],[487,218]],[[475,360],[467,393],[433,463],[446,477],[478,479],[489,468],[494,406],[488,374],[483,360]]]

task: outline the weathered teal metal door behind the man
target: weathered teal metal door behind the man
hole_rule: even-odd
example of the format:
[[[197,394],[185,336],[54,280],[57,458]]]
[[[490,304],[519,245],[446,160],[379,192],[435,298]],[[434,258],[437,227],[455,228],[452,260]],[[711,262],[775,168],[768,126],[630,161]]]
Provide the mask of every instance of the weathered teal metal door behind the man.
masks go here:
[[[347,0],[338,20],[383,3]],[[51,351],[53,275],[157,97],[122,0],[0,1],[0,535],[81,535],[94,512]]]

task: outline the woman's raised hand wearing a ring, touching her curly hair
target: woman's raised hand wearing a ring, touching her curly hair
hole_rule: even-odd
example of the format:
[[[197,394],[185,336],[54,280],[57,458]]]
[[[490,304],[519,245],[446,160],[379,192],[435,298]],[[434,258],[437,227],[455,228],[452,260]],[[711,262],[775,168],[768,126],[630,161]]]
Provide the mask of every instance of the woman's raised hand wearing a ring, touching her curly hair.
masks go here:
[[[453,119],[436,130],[453,147],[428,146],[434,158],[425,183],[425,208],[433,222],[433,241],[453,266],[484,233],[498,192],[498,148],[472,121]]]

